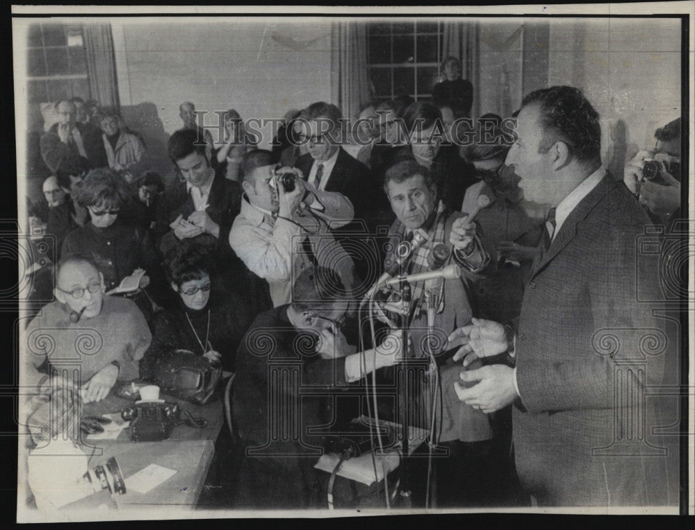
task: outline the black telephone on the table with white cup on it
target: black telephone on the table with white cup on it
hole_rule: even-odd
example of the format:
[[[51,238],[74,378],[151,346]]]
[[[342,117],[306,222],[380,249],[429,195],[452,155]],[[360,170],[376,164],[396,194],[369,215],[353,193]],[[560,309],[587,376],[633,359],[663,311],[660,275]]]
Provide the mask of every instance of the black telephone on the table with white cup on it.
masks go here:
[[[139,402],[121,412],[121,418],[131,422],[133,442],[154,442],[169,438],[177,425],[190,425],[202,429],[207,425],[203,418],[193,418],[176,403]]]

